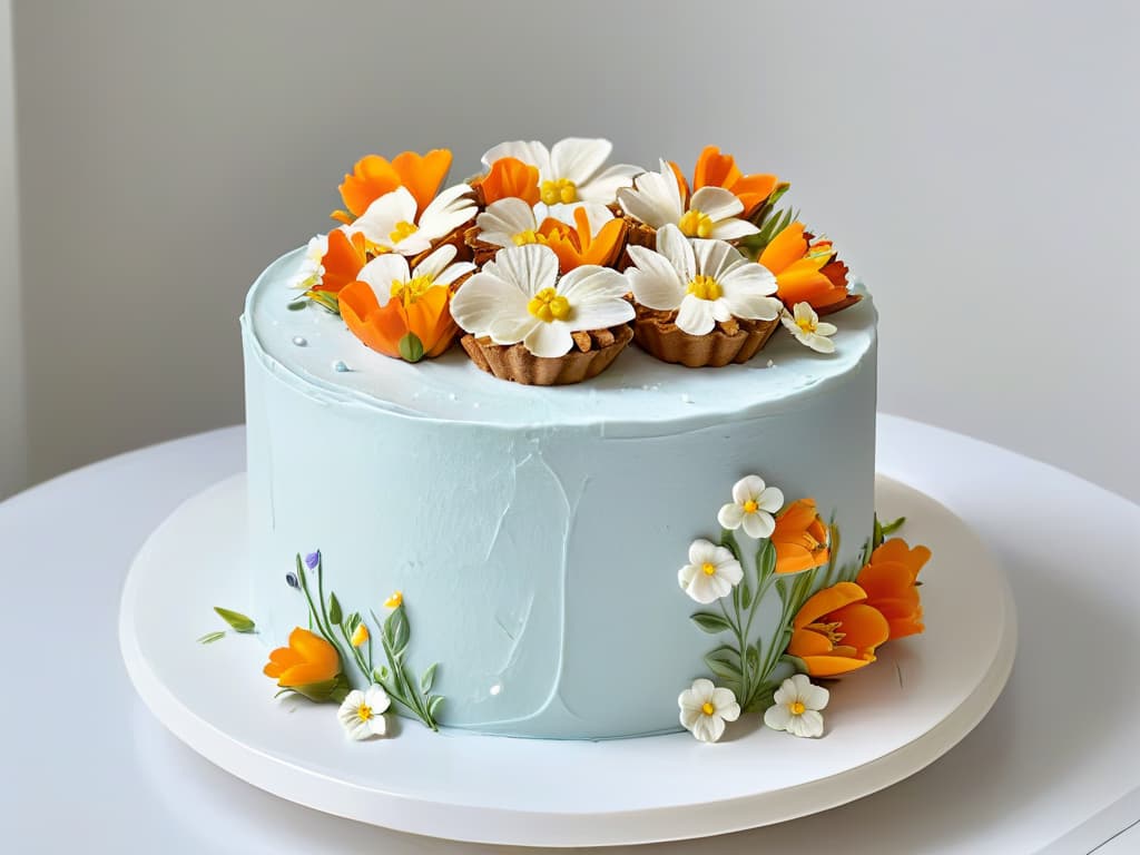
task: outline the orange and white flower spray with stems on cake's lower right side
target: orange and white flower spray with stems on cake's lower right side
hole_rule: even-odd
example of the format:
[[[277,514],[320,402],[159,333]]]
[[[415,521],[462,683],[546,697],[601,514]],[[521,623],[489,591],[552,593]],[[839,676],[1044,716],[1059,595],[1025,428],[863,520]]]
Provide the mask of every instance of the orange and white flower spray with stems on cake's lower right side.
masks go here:
[[[902,519],[886,526],[876,520],[860,561],[839,568],[838,527],[823,521],[814,499],[785,504],[783,492],[759,475],[734,484],[717,521],[719,543],[693,540],[677,581],[702,606],[717,606],[691,619],[722,637],[705,657],[722,685],[700,677],[683,691],[681,724],[697,739],[716,742],[726,722],[763,709],[774,730],[821,736],[829,693],[811,678],[864,668],[882,644],[923,630],[918,577],[930,551],[888,538]],[[747,548],[738,534],[748,538]],[[773,587],[779,620],[754,633]]]

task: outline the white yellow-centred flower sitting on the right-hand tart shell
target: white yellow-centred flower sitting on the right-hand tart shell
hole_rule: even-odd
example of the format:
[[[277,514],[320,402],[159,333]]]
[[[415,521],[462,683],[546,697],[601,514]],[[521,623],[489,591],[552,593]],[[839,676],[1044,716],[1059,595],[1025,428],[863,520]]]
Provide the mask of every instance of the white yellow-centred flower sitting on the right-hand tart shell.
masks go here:
[[[677,328],[712,332],[730,318],[774,320],[783,306],[772,294],[775,277],[724,241],[689,241],[673,223],[658,229],[657,251],[626,247],[634,299],[650,309],[677,312]]]

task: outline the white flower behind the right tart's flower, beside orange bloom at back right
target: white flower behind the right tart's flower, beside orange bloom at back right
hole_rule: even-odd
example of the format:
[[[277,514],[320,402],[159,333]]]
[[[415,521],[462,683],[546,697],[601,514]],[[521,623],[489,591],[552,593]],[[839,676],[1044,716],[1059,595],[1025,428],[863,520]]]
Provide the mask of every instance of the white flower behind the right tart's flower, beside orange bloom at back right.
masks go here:
[[[685,237],[735,241],[759,231],[736,215],[744,203],[724,187],[701,187],[686,206],[681,181],[665,161],[660,172],[644,172],[632,188],[619,189],[618,203],[635,220],[656,229],[676,226]]]

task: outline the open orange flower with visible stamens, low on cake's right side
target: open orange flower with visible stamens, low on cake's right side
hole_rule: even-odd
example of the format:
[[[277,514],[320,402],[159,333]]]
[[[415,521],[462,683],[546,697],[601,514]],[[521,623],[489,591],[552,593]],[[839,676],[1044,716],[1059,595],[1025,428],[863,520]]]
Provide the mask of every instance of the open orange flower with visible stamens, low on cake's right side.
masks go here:
[[[808,597],[792,621],[788,652],[813,677],[836,677],[874,661],[874,649],[890,637],[887,619],[866,604],[866,592],[841,581]]]

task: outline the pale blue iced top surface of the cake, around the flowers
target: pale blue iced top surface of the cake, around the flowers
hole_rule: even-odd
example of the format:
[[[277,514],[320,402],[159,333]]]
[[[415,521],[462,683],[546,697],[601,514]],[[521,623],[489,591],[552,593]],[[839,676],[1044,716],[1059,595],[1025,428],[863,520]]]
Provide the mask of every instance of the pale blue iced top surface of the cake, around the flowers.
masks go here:
[[[795,406],[799,396],[825,392],[831,382],[858,369],[876,343],[876,310],[865,291],[857,288],[864,299],[844,310],[833,353],[817,353],[782,335],[744,365],[686,368],[628,347],[588,383],[507,383],[481,372],[461,348],[409,364],[369,350],[337,316],[315,306],[290,309],[295,292],[288,283],[303,255],[304,250],[283,255],[251,288],[242,319],[252,345],[250,357],[307,394],[355,400],[412,418],[603,430],[658,423],[676,431],[686,424],[756,417],[773,406]]]

